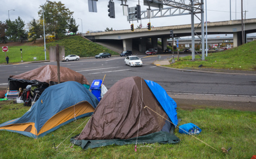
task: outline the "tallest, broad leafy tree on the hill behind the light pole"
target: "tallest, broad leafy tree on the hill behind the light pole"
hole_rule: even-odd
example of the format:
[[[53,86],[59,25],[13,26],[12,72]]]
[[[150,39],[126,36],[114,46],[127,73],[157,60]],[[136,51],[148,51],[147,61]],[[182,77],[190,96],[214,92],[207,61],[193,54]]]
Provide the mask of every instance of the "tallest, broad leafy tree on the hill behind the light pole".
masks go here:
[[[55,35],[56,38],[64,36],[66,29],[69,27],[68,22],[74,12],[70,12],[70,10],[61,3],[61,1],[48,1],[44,6],[40,5],[40,7],[44,9],[46,34]],[[39,10],[38,14],[42,19],[42,9]]]

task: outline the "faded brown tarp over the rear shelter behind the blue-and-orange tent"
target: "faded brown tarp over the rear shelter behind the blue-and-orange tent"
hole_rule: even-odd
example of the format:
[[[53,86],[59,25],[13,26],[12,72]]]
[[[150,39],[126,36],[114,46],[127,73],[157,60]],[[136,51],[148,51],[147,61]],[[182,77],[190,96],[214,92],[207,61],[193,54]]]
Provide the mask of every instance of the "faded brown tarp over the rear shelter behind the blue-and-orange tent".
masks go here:
[[[73,71],[65,67],[59,67],[60,82],[76,81],[82,85],[87,85],[90,88],[90,84],[87,79],[79,72]],[[9,80],[9,90],[22,90],[27,85],[32,84],[45,84],[48,86],[58,84],[58,68],[55,65],[45,65],[37,69],[27,71],[18,75],[11,75]]]

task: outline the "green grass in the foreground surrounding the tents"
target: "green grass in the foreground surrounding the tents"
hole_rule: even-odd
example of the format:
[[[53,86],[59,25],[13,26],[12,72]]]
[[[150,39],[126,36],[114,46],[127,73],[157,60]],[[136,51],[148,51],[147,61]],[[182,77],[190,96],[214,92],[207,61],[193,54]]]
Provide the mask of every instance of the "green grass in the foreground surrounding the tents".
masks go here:
[[[21,117],[29,107],[5,101],[0,105],[0,123]],[[256,155],[256,112],[221,108],[177,110],[181,124],[193,123],[202,129],[196,137],[176,133],[178,144],[105,146],[82,150],[69,142],[81,132],[88,118],[66,124],[37,140],[18,133],[0,131],[0,159],[251,159]],[[77,130],[76,130],[77,129]],[[74,133],[73,131],[76,130]],[[72,134],[73,133],[73,134]],[[66,139],[67,138],[67,139]],[[66,140],[65,140],[66,139]],[[54,149],[53,144],[59,147]],[[221,147],[232,147],[228,154]]]

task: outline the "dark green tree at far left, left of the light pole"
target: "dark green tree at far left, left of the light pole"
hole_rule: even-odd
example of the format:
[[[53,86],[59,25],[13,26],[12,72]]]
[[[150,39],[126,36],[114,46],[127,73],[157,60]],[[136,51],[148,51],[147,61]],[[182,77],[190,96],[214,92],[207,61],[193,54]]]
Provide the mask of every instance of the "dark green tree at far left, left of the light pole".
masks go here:
[[[20,42],[27,40],[28,33],[25,30],[25,22],[20,17],[15,19],[15,21],[6,20],[6,23],[6,35],[8,36],[9,40]]]

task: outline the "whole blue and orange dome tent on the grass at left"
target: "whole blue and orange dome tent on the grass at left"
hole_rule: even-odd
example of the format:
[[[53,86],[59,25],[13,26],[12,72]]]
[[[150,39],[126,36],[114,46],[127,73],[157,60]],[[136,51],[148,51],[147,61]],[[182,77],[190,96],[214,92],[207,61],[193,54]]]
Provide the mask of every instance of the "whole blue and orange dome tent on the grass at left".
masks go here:
[[[22,117],[0,124],[0,130],[42,137],[75,119],[91,116],[98,99],[84,86],[68,81],[46,88]]]

